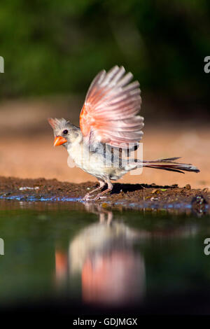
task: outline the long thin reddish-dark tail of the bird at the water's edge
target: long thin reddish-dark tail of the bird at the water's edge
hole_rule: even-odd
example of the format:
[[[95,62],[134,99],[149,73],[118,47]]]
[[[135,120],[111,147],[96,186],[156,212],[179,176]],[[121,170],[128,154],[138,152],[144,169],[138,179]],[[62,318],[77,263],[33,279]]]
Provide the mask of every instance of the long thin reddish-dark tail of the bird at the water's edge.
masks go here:
[[[175,162],[175,160],[177,159],[180,158],[167,158],[167,159],[158,159],[153,161],[135,160],[135,162],[138,163],[137,167],[162,169],[162,170],[168,170],[169,172],[181,172],[182,174],[184,174],[184,172],[200,172],[200,170],[193,165],[187,163]]]

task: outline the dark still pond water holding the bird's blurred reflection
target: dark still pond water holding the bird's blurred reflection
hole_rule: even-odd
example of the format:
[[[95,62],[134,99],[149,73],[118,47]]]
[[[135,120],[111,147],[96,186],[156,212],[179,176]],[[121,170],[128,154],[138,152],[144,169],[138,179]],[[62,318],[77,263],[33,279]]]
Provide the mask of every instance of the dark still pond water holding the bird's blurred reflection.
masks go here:
[[[209,216],[0,201],[0,307],[205,312]],[[210,248],[209,248],[210,251]]]

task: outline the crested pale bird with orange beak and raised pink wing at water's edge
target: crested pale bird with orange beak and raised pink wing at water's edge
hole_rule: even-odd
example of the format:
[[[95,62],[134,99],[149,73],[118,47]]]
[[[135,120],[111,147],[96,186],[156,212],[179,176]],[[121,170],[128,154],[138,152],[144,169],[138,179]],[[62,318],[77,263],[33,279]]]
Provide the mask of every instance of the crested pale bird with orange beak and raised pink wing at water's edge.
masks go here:
[[[141,90],[139,81],[132,80],[132,73],[127,73],[123,66],[102,70],[87,90],[80,127],[64,118],[48,118],[55,136],[54,146],[64,146],[76,166],[99,182],[83,201],[101,199],[113,189],[111,181],[137,168],[200,172],[193,165],[176,162],[180,157],[151,161],[126,158],[139,148],[144,134],[144,118],[139,115]]]

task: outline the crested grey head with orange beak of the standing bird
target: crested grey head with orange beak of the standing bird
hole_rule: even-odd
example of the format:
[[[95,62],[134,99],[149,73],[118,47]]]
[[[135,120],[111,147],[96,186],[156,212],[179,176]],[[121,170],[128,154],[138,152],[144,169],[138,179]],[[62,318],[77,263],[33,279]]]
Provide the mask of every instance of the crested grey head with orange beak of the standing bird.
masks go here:
[[[50,123],[50,126],[52,127],[55,135],[54,146],[64,144],[64,146],[67,148],[68,144],[73,143],[73,141],[78,138],[78,127],[72,125],[64,118],[48,118],[48,123]]]

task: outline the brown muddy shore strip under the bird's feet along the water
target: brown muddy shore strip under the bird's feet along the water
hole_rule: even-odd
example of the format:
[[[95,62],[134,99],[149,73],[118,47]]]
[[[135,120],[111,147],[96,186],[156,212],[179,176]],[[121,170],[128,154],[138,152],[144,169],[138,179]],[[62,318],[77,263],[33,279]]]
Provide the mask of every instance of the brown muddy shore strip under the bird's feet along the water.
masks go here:
[[[85,193],[97,186],[94,182],[69,183],[57,179],[18,179],[0,177],[0,199],[22,202],[81,202]],[[113,191],[102,200],[102,207],[122,209],[194,211],[209,213],[208,188],[193,189],[190,185],[158,186],[155,184],[115,183]]]

